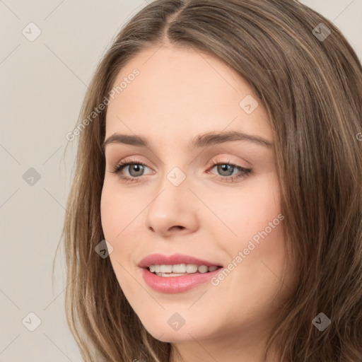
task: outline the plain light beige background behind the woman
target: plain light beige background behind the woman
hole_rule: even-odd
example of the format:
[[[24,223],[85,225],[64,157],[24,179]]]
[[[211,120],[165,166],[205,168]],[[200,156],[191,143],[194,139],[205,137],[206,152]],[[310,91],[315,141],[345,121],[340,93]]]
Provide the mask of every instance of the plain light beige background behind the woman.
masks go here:
[[[361,59],[362,0],[302,2],[333,21]],[[0,0],[1,362],[81,361],[64,315],[62,252],[52,286],[76,152],[73,141],[63,158],[65,135],[74,129],[100,57],[146,4]],[[41,30],[33,42],[22,33],[36,35],[30,22]],[[40,175],[33,185],[23,179],[29,168]],[[36,317],[28,313],[41,321],[33,332],[27,327],[36,327]]]

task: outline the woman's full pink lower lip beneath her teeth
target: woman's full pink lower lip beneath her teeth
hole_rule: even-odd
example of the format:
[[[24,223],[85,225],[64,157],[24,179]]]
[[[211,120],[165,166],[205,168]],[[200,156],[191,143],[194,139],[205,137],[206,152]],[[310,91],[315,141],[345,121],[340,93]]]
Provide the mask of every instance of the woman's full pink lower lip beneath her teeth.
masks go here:
[[[206,283],[218,274],[221,268],[207,273],[193,273],[182,276],[158,276],[151,273],[147,268],[142,268],[142,276],[148,286],[161,293],[181,293],[195,286]]]

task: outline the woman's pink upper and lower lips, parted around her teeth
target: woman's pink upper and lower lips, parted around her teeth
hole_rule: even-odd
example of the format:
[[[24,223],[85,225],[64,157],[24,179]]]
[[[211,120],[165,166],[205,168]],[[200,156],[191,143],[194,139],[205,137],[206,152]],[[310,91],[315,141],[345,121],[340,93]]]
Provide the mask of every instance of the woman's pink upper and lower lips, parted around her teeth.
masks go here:
[[[208,271],[206,273],[194,273],[183,276],[158,276],[149,271],[148,267],[150,265],[159,264],[197,264],[206,265],[206,267],[220,267],[220,264],[207,262],[206,260],[197,259],[195,257],[191,257],[190,255],[148,255],[139,263],[139,267],[143,268],[142,276],[148,286],[151,286],[153,290],[159,291],[161,293],[181,293],[182,291],[188,291],[189,289],[194,288],[199,284],[209,281],[213,276],[218,273],[218,271],[220,271],[220,268],[218,268],[214,271]]]

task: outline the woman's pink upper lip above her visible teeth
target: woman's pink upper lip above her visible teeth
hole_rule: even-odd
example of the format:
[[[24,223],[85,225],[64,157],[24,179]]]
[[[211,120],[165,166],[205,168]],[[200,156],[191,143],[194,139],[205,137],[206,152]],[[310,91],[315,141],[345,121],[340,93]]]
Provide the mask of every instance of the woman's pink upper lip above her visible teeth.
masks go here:
[[[175,264],[197,264],[206,265],[206,267],[221,267],[221,264],[208,262],[191,255],[184,254],[173,254],[173,255],[162,255],[162,254],[151,254],[144,257],[139,262],[139,267],[148,268],[150,265],[175,265]]]

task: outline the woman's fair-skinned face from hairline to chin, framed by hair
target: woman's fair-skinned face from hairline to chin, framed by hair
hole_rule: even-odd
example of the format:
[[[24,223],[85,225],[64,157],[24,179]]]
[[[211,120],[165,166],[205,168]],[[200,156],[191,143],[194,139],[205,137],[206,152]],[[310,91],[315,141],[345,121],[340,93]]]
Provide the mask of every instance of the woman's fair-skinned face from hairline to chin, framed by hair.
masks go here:
[[[285,259],[264,107],[218,59],[170,45],[141,52],[114,86],[101,217],[124,295],[161,341],[260,341]]]

